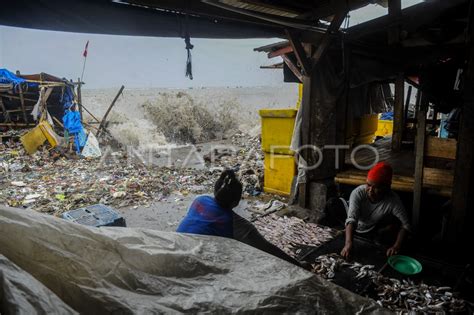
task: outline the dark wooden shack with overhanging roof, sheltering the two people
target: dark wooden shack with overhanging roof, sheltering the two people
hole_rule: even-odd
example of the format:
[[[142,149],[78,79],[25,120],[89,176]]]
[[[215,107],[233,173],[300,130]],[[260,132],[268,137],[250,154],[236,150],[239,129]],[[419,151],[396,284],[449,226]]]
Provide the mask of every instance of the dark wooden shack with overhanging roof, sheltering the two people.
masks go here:
[[[388,7],[388,14],[341,27],[352,10],[373,3]],[[262,50],[283,58],[286,81],[303,83],[300,144],[321,147],[324,155],[321,165],[306,170],[299,183],[303,207],[321,208],[325,198],[313,197],[326,196],[335,181],[365,181],[365,173],[352,167],[354,161],[346,162],[349,149],[338,154],[334,146],[347,145],[350,112],[367,105],[356,95],[366,95],[374,84],[394,84],[393,135],[378,142],[377,149],[394,164],[394,188],[413,193],[415,226],[425,193],[450,198],[446,240],[456,244],[472,235],[473,10],[472,0],[430,0],[405,9],[401,0],[19,0],[2,8],[0,23],[107,34],[285,38]],[[420,91],[411,121],[404,115],[405,82]],[[436,116],[427,120],[429,107],[437,112],[461,109],[455,141],[427,136],[427,126],[438,123]],[[406,147],[409,124],[414,137]],[[318,158],[311,150],[300,157],[310,165]]]

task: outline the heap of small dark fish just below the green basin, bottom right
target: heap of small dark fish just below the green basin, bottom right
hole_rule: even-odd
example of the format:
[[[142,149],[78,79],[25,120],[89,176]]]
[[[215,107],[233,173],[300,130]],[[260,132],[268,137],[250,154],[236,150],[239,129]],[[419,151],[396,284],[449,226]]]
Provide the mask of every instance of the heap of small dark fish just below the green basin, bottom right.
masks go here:
[[[462,312],[466,302],[458,299],[450,287],[435,287],[427,284],[415,284],[410,280],[399,281],[378,276],[376,285],[377,303],[385,308],[417,312]]]

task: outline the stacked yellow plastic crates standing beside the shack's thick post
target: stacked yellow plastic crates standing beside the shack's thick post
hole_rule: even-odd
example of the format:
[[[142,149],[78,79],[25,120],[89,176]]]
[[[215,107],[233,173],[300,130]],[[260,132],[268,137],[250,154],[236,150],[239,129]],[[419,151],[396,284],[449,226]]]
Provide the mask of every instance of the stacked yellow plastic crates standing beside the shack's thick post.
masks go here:
[[[295,152],[290,149],[296,109],[262,109],[262,151],[265,192],[289,196],[296,175]]]

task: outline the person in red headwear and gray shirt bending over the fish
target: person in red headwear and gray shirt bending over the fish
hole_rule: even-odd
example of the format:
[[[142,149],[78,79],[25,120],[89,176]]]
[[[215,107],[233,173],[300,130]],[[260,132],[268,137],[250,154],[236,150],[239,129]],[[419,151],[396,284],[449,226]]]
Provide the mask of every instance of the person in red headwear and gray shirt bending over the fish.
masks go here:
[[[366,184],[352,191],[349,203],[342,198],[336,200],[345,208],[344,258],[351,254],[354,233],[388,243],[387,256],[399,252],[410,223],[400,198],[391,189],[392,174],[389,164],[379,162],[367,174]]]

